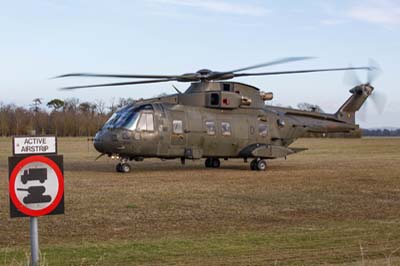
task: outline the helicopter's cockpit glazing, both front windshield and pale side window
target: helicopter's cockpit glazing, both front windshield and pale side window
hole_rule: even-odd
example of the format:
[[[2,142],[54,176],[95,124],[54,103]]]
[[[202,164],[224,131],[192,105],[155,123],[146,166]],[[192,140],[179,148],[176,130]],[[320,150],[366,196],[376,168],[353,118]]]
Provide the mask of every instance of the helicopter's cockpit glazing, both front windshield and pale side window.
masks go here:
[[[154,121],[151,105],[127,106],[115,112],[104,124],[104,129],[123,128],[134,131],[154,130]],[[149,112],[150,111],[150,112]]]

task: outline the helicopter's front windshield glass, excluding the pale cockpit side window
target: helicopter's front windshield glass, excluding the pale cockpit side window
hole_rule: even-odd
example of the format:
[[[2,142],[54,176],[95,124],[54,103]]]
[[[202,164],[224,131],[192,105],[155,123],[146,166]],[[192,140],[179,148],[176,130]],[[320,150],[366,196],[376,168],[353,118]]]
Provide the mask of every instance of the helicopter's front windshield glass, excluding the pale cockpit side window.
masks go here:
[[[153,110],[151,105],[129,106],[115,112],[104,124],[104,128],[126,128],[135,130],[142,110]]]

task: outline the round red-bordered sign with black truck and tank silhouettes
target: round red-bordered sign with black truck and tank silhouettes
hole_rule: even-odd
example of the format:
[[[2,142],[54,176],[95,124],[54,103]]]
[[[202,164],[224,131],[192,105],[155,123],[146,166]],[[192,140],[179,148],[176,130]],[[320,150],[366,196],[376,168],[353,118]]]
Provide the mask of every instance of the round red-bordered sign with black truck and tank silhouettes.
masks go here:
[[[58,165],[44,156],[30,156],[12,170],[9,192],[15,207],[28,216],[52,212],[64,194],[64,177]]]

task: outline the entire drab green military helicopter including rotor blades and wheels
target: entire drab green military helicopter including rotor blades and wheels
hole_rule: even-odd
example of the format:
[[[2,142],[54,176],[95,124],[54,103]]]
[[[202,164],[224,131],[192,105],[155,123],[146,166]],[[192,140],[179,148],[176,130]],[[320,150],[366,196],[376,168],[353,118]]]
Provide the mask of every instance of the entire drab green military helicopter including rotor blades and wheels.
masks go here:
[[[201,69],[183,75],[120,75],[71,73],[65,77],[101,77],[143,79],[65,87],[65,90],[138,85],[158,82],[190,82],[185,92],[138,100],[116,111],[97,132],[94,147],[100,156],[120,162],[117,172],[131,171],[129,161],[144,158],[205,158],[205,167],[220,167],[220,159],[251,159],[250,169],[264,171],[267,159],[286,158],[306,149],[290,145],[307,132],[350,132],[357,128],[355,113],[371,95],[375,67],[345,67],[276,72],[247,73],[246,70],[278,65],[310,57],[288,57],[231,71]],[[311,72],[367,70],[368,81],[351,90],[351,96],[333,114],[302,111],[266,105],[271,92],[239,82],[238,77],[285,75]]]

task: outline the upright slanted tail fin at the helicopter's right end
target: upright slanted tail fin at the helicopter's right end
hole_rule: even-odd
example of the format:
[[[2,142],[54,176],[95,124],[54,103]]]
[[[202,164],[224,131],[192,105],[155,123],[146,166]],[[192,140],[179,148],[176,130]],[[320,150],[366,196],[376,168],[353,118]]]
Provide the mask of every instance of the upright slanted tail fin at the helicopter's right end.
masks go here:
[[[352,95],[335,113],[335,116],[343,122],[355,124],[355,113],[360,110],[361,106],[371,95],[374,87],[370,84],[358,85],[350,90]]]

